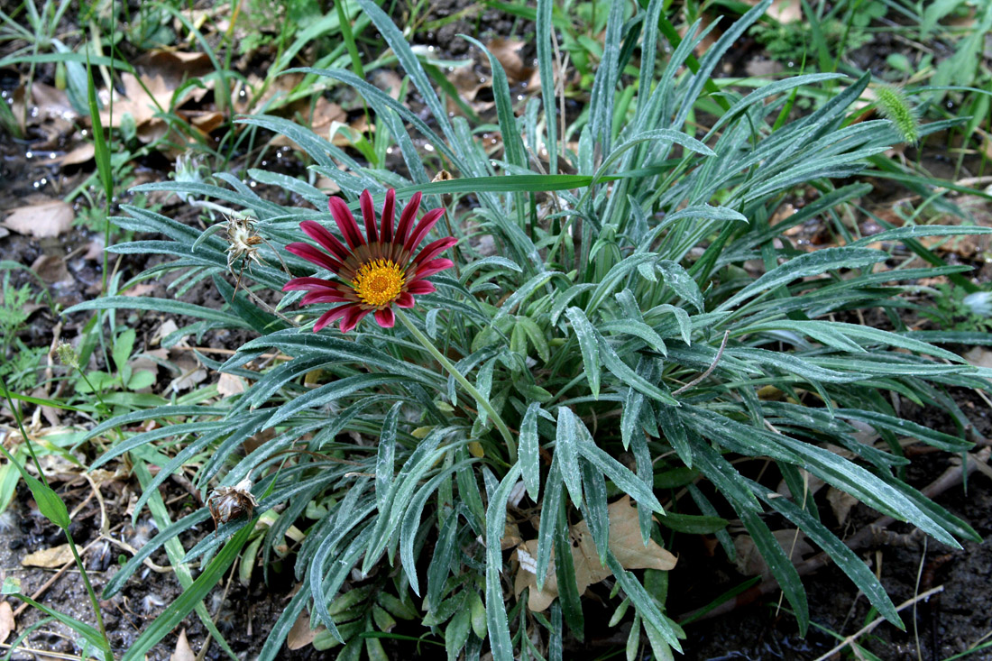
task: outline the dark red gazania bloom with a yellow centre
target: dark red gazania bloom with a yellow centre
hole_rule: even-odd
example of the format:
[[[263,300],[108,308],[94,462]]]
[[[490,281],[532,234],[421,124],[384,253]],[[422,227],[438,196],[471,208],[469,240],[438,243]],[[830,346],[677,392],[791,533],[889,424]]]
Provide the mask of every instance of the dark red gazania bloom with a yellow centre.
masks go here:
[[[294,278],[283,287],[284,292],[310,292],[303,298],[303,305],[343,304],[321,315],[313,326],[314,332],[338,319],[341,320],[341,332],[350,331],[370,312],[375,313],[375,321],[379,326],[390,329],[396,321],[393,305],[413,308],[414,296],[434,291],[434,285],[425,278],[454,265],[450,259],[437,258],[437,255],[457,242],[451,236],[437,239],[414,254],[417,246],[444,212],[440,208],[432,209],[415,225],[417,211],[421,206],[420,193],[415,194],[403,209],[400,225],[395,232],[393,215],[396,193],[392,189],[386,193],[382,223],[378,228],[372,196],[365,191],[359,201],[362,219],[365,221],[364,237],[344,200],[330,198],[328,202],[330,213],[348,244],[347,248],[313,220],[301,222],[300,227],[326,253],[309,243],[291,243],[286,246],[293,254],[328,269],[338,278]]]

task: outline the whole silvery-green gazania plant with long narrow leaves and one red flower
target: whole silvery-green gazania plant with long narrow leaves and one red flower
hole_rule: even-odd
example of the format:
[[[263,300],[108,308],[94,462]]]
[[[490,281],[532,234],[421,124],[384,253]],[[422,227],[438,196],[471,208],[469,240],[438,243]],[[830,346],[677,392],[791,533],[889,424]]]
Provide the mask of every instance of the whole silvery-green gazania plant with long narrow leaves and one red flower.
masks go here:
[[[224,574],[226,566],[215,563],[232,562],[238,545],[248,544],[246,556],[299,581],[259,658],[279,658],[291,630],[313,628],[313,644],[321,649],[342,645],[343,658],[357,658],[363,649],[384,658],[384,636],[374,630],[388,634],[396,618],[420,619],[442,635],[448,658],[478,658],[485,647],[496,661],[561,658],[566,636],[574,644],[587,628],[609,621],[585,617],[602,604],[615,607],[610,626],[631,621],[631,658],[646,645],[656,658],[671,657],[684,637],[680,611],[705,601],[686,604],[680,599],[689,597],[669,591],[668,574],[678,575],[682,565],[674,566],[663,546],[678,551],[683,535],[713,534],[733,558],[731,532],[747,535],[767,559],[771,576],[762,585],[782,587],[805,632],[802,581],[769,527],[786,520],[882,615],[901,623],[878,578],[820,519],[824,503],[815,499],[823,496],[808,484],[818,478],[948,545],[980,539],[902,481],[909,460],[898,437],[952,452],[971,444],[900,420],[891,402],[905,396],[944,407],[965,429],[964,414],[948,404],[945,389],[989,389],[987,372],[925,335],[840,323],[834,315],[891,312],[901,290],[883,283],[959,277],[966,268],[879,272],[899,253],[869,246],[985,229],[907,226],[850,235],[842,220],[871,186],[837,188],[833,178],[850,178],[866,159],[883,158],[893,140],[888,121],[848,121],[868,77],[784,124],[791,115],[781,105],[798,88],[841,76],[791,76],[743,97],[728,88],[705,99],[709,106],[714,99],[725,103],[726,112],[691,137],[683,128],[712,85],[710,73],[770,0],[689,67],[703,37],[691,26],[687,34],[694,36],[674,44],[661,71],[655,70],[654,26],[664,3],[636,9],[638,20],[627,20],[625,4],[613,3],[590,112],[576,122],[579,135],[572,140],[558,135],[552,3],[539,0],[543,110],[532,99],[526,113],[515,113],[503,69],[486,52],[504,146],[497,161],[465,120],[448,117],[399,29],[371,0],[358,3],[407,68],[435,123],[348,71],[306,72],[361,92],[398,141],[409,180],[356,162],[309,129],[260,115],[242,121],[286,134],[307,152],[312,170],[342,192],[343,199],[329,201],[324,224],[312,219],[312,209],[260,198],[224,173],[215,186],[173,182],[139,190],[180,191],[250,209],[267,240],[256,253],[264,263],[250,274],[254,288],[304,291],[305,305],[333,305],[313,331],[340,320],[347,332],[370,313],[381,328],[370,325],[349,337],[293,328],[279,308],[295,302],[295,294],[275,311],[249,302],[245,294],[252,290],[238,293],[224,277],[230,265],[220,237],[135,207],[115,222],[161,232],[178,245],[136,241],[113,249],[178,255],[172,267],[212,276],[225,309],[124,296],[74,309],[154,309],[195,317],[190,333],[232,328],[258,334],[223,363],[202,359],[249,383],[243,392],[122,416],[89,436],[149,418],[183,418],[171,429],[133,433],[94,464],[125,452],[139,456],[144,445],[170,434],[189,435],[143,483],[136,513],[186,463],[198,466],[196,483],[204,492],[218,481],[233,486],[253,479],[255,511],[266,524],[223,523],[216,538],[200,539],[183,560],[210,558],[219,545],[230,545],[197,579],[202,586]],[[630,67],[625,58],[638,47],[644,56],[639,84],[615,95],[621,72]],[[434,162],[422,160],[408,127],[456,173],[453,181],[427,184]],[[618,136],[629,137],[618,142]],[[577,145],[576,151],[559,150],[561,144]],[[529,155],[541,154],[548,156],[547,168],[540,163],[534,169],[543,174],[537,174]],[[575,174],[559,174],[565,169]],[[324,192],[302,179],[257,170],[249,175],[291,189],[316,208],[328,204]],[[771,224],[791,192],[810,182],[814,199]],[[418,190],[429,199],[459,196],[469,217],[453,223],[455,237],[416,252],[441,211],[417,221],[422,194],[413,194],[394,231],[397,194],[390,186],[401,197]],[[378,223],[372,195],[384,196]],[[364,236],[345,199],[361,208]],[[834,214],[838,205],[848,213]],[[787,230],[816,218],[834,223],[849,240],[814,253],[792,246]],[[329,229],[331,220],[340,237]],[[298,226],[319,248],[296,240]],[[483,250],[478,235],[492,247]],[[454,276],[441,274],[451,260],[439,255],[456,239],[458,268]],[[284,247],[292,255],[289,278],[271,266]],[[332,279],[294,277],[308,262]],[[764,272],[755,274],[756,268]],[[415,296],[434,291],[431,276],[443,305],[411,309]],[[397,319],[401,328],[383,331]],[[278,364],[270,362],[275,358]],[[256,443],[263,432],[271,438]],[[877,438],[866,442],[866,432]],[[241,456],[246,447],[253,450]],[[150,456],[159,461],[161,454]],[[621,494],[634,506],[618,505]],[[162,526],[115,575],[107,594],[174,541],[169,535],[207,516],[202,508]],[[731,527],[730,520],[742,525]],[[243,534],[235,534],[239,528]],[[285,562],[269,563],[276,560]],[[610,577],[615,582],[606,584]],[[582,589],[597,593],[595,605],[582,598]],[[182,602],[191,608],[195,600],[185,595]]]

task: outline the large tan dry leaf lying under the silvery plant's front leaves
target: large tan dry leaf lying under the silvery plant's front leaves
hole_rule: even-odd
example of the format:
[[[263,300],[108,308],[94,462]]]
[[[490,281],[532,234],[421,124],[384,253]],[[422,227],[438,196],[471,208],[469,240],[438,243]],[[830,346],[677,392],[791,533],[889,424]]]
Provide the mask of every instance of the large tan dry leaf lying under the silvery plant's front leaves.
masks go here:
[[[609,511],[610,531],[609,547],[617,562],[624,569],[657,569],[669,571],[676,566],[677,558],[655,543],[648,540],[645,546],[641,539],[641,526],[637,519],[637,509],[632,505],[630,496],[611,503]],[[569,531],[571,539],[572,565],[575,568],[575,583],[578,594],[585,589],[612,576],[609,568],[599,564],[599,554],[592,541],[592,533],[585,521],[579,521]],[[538,591],[537,567],[535,560],[538,556],[538,540],[532,539],[517,548],[517,558],[520,568],[514,584],[514,592],[520,595],[525,588],[530,588],[527,606],[531,610],[545,610],[558,596],[558,579],[555,576],[555,559],[548,567],[545,588]]]

